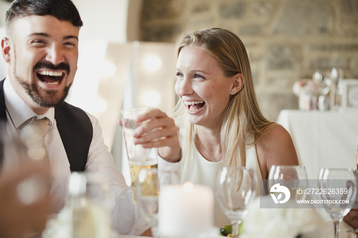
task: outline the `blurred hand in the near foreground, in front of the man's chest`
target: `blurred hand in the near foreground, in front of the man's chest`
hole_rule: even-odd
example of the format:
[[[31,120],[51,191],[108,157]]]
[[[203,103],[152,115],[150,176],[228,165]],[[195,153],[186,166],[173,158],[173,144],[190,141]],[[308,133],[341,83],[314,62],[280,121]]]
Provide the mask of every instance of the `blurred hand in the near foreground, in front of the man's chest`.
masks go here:
[[[1,174],[1,237],[29,237],[44,230],[50,205],[49,195],[41,193],[40,196],[33,196],[27,191],[34,186],[34,178],[47,173],[45,168],[38,165],[23,164],[19,170]]]

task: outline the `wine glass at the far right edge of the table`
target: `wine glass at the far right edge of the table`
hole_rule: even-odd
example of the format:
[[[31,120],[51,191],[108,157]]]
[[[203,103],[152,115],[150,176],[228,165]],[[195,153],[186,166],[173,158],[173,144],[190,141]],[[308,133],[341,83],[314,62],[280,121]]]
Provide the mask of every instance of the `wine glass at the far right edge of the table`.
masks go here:
[[[344,216],[353,207],[357,195],[357,176],[352,169],[322,168],[318,176],[318,188],[324,208],[334,224],[334,237],[339,237]]]

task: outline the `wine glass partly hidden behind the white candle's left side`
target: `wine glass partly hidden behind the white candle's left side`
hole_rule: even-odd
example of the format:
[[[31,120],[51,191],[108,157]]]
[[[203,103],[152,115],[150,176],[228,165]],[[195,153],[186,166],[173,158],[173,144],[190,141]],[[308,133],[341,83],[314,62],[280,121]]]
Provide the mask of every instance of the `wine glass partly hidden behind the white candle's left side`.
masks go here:
[[[160,237],[158,232],[158,210],[160,188],[166,184],[178,184],[176,173],[158,169],[142,169],[138,173],[136,201],[139,212],[151,226],[154,237]]]

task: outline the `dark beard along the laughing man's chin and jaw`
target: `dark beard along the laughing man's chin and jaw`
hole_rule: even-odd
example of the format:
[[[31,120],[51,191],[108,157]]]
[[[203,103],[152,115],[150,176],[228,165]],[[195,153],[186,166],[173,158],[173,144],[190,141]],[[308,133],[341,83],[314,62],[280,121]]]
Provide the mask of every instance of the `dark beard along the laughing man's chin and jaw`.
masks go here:
[[[14,69],[13,74],[15,76],[15,79],[17,82],[25,89],[27,94],[31,97],[31,99],[38,104],[41,107],[56,107],[58,105],[61,105],[65,98],[67,97],[70,87],[72,83],[69,86],[65,86],[62,91],[55,91],[55,90],[44,90],[45,95],[40,96],[39,89],[37,88],[35,83],[27,83],[24,79],[21,79],[21,77],[16,75],[16,54],[15,54],[15,62],[14,62]]]

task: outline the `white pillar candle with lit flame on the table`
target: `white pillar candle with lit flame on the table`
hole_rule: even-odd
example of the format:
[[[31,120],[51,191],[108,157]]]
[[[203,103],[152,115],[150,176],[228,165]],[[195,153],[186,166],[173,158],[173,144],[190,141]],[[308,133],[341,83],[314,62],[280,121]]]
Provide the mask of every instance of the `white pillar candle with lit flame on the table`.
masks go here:
[[[205,185],[166,185],[159,195],[158,228],[162,237],[189,237],[213,226],[214,193]]]

